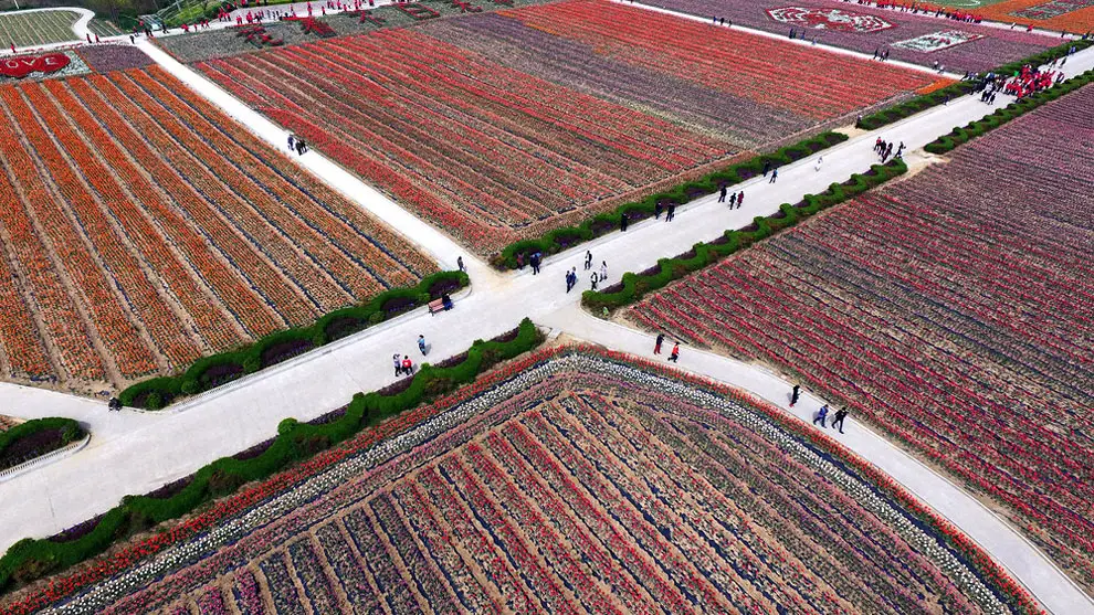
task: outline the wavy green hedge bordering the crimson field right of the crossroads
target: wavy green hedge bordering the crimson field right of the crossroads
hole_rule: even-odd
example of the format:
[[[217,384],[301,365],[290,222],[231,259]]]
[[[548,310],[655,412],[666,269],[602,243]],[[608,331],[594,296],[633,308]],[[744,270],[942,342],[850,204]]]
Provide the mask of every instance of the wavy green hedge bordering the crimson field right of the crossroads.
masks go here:
[[[804,220],[851,199],[875,185],[884,183],[907,171],[907,165],[900,158],[894,158],[885,165],[874,165],[865,174],[855,173],[843,183],[833,183],[820,194],[806,194],[797,205],[782,203],[779,212],[769,216],[756,216],[753,224],[743,230],[726,231],[725,234],[709,243],[697,243],[686,254],[675,258],[661,258],[658,265],[646,272],[623,274],[619,290],[608,293],[611,288],[586,290],[581,294],[581,303],[599,312],[608,308],[614,309],[641,299],[646,293],[656,290],[669,283],[680,279],[692,272],[706,267],[722,258],[749,245],[767,238],[782,229],[793,226]]]

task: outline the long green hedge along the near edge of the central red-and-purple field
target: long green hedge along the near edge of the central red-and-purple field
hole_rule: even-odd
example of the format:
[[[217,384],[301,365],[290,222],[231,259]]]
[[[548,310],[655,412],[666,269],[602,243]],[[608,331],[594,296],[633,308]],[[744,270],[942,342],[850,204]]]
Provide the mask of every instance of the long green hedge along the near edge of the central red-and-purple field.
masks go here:
[[[555,229],[545,233],[540,238],[514,242],[505,246],[501,254],[492,259],[491,264],[498,269],[515,269],[517,268],[517,254],[525,255],[525,263],[528,262],[527,256],[537,251],[544,254],[557,254],[618,230],[623,214],[627,214],[630,221],[652,218],[658,203],[676,203],[677,205],[687,203],[698,197],[717,192],[723,184],[733,185],[760,174],[766,162],[772,166],[789,165],[845,140],[848,140],[848,136],[841,132],[821,132],[816,137],[786,146],[771,153],[757,156],[746,162],[738,162],[720,171],[709,173],[702,179],[682,183],[671,191],[650,194],[638,202],[623,203],[616,211],[597,214],[578,226]]]

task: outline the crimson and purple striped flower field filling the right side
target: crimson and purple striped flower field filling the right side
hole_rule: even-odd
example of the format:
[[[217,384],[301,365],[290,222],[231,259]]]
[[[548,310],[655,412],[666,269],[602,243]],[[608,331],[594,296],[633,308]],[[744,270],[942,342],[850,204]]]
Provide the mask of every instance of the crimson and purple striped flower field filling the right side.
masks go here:
[[[1087,86],[627,316],[844,400],[1094,586],[1091,108]]]

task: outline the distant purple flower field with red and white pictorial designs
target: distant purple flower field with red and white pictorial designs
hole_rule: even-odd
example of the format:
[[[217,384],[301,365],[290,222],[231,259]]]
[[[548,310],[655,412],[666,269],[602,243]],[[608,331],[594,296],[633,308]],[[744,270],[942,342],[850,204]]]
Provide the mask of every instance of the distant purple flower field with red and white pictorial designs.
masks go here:
[[[924,66],[937,61],[948,71],[988,71],[1000,64],[1021,60],[1060,43],[1052,36],[1027,33],[1022,29],[1004,30],[962,23],[926,14],[877,9],[839,0],[664,0],[656,3],[698,15],[718,15],[777,34],[789,35],[790,29],[804,31],[818,42],[873,54],[891,49],[890,60],[903,60]],[[793,11],[786,9],[793,8]],[[985,9],[977,8],[978,13]],[[1011,22],[1013,18],[1002,21]],[[876,22],[882,22],[877,24]],[[924,46],[909,41],[947,32],[964,33],[968,42],[953,46]],[[897,43],[906,43],[898,45]]]

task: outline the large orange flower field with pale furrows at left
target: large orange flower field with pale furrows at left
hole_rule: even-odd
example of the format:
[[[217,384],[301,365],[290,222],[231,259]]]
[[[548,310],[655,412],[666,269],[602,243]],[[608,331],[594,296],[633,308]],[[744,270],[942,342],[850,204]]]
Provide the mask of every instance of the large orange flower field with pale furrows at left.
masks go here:
[[[435,271],[158,67],[0,85],[0,141],[9,379],[120,386]]]

